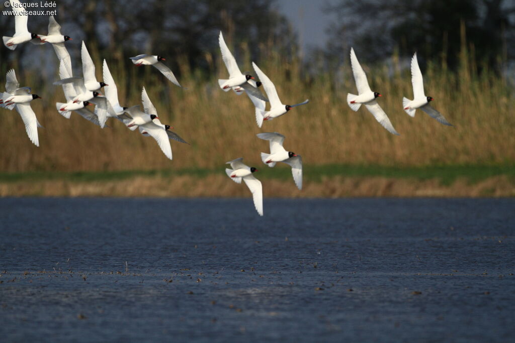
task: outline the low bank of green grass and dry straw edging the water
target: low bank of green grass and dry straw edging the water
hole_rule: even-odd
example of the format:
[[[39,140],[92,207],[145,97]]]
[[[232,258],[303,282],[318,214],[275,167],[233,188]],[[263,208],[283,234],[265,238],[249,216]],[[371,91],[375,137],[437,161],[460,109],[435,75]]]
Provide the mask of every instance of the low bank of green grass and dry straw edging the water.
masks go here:
[[[287,166],[259,167],[269,197],[515,196],[515,166],[305,166],[299,191]],[[0,196],[247,197],[223,169],[0,173]]]

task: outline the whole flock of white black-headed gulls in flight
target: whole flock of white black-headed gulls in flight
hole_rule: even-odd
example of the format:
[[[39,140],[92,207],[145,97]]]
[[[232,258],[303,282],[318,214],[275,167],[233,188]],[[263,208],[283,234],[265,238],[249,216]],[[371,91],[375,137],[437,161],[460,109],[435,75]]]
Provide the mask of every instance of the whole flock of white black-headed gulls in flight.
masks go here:
[[[109,67],[104,60],[102,65],[103,81],[97,81],[95,76],[95,65],[90,57],[88,49],[84,42],[81,46],[82,60],[82,78],[74,77],[72,73],[72,62],[70,54],[66,50],[64,43],[72,40],[72,38],[61,33],[61,26],[56,22],[54,16],[49,17],[48,35],[35,34],[28,31],[27,13],[20,4],[19,0],[10,0],[10,5],[15,15],[15,33],[13,37],[3,37],[4,45],[14,50],[17,45],[31,42],[36,45],[52,44],[59,60],[59,81],[54,85],[62,86],[66,102],[56,103],[56,109],[59,114],[65,118],[70,118],[71,113],[78,113],[83,118],[104,128],[108,118],[115,118],[123,122],[129,130],[139,129],[140,133],[145,136],[153,137],[164,155],[172,159],[170,139],[187,143],[176,133],[170,131],[173,129],[170,125],[161,123],[156,108],[150,101],[145,87],[142,90],[143,111],[140,105],[131,107],[123,107],[119,104],[116,84],[109,71]],[[262,127],[264,121],[278,118],[296,106],[304,105],[304,102],[287,105],[283,104],[279,99],[276,87],[272,81],[263,73],[263,71],[252,62],[255,75],[259,78],[256,81],[250,74],[242,74],[234,56],[227,47],[222,32],[218,37],[222,59],[229,72],[229,79],[219,79],[220,88],[225,91],[233,91],[237,95],[243,93],[252,101],[255,107],[255,119],[258,127]],[[394,135],[399,133],[393,128],[388,116],[383,111],[376,99],[381,97],[380,93],[372,92],[367,81],[365,71],[359,64],[354,49],[350,52],[351,66],[356,82],[358,95],[348,94],[347,103],[353,111],[358,111],[359,107],[364,104],[367,110],[383,127]],[[139,55],[130,58],[136,66],[152,65],[156,67],[170,82],[183,88],[172,71],[162,62],[165,59],[161,56]],[[414,99],[409,100],[403,98],[403,109],[411,117],[415,116],[415,111],[421,109],[431,117],[445,125],[451,125],[441,113],[436,111],[430,102],[432,97],[426,96],[424,93],[424,85],[422,73],[417,61],[417,53],[411,59],[411,83],[413,84]],[[259,91],[259,87],[263,86],[266,97]],[[99,91],[104,88],[105,95]],[[39,147],[38,128],[42,128],[36,118],[36,114],[30,107],[30,102],[40,98],[36,94],[31,94],[30,87],[20,87],[14,69],[7,72],[6,75],[6,92],[0,93],[0,106],[8,110],[14,108],[25,123],[25,130],[29,139]],[[266,111],[266,102],[269,102],[269,110]],[[87,108],[89,105],[95,105],[94,111]],[[287,151],[283,147],[285,136],[277,132],[259,133],[258,138],[268,140],[270,145],[270,153],[261,153],[263,163],[268,167],[274,167],[276,163],[282,162],[291,167],[291,173],[298,189],[302,189],[302,157],[292,151]],[[243,157],[236,158],[227,162],[232,169],[227,168],[227,175],[236,183],[241,184],[242,180],[250,189],[254,201],[256,211],[263,215],[263,188],[260,180],[254,177],[253,173],[257,171],[254,167],[249,167],[243,163]]]

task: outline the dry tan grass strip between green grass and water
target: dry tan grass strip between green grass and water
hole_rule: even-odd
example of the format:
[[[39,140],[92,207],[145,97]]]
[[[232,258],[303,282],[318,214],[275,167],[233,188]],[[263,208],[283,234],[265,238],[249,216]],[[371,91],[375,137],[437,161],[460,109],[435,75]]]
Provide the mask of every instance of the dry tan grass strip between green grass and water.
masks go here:
[[[496,175],[471,181],[465,176],[440,178],[321,176],[304,179],[298,190],[291,177],[261,179],[265,197],[515,197],[515,178]],[[225,175],[132,176],[122,179],[0,179],[0,197],[250,197],[243,184]]]

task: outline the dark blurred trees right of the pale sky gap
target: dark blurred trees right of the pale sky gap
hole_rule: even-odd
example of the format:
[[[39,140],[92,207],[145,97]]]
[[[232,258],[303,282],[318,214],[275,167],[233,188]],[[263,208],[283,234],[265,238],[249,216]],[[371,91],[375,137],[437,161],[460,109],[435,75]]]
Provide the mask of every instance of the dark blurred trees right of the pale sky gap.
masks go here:
[[[499,57],[514,57],[513,0],[340,0],[326,6],[338,20],[329,32],[332,53],[354,46],[360,58],[383,59],[398,48],[404,56],[421,51],[458,65],[461,23],[475,58],[496,67]]]

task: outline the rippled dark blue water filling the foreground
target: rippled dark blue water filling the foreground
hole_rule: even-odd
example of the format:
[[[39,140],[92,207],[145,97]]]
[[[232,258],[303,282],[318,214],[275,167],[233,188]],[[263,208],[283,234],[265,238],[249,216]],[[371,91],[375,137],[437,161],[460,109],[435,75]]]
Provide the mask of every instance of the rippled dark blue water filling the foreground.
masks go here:
[[[0,234],[2,341],[515,338],[514,199],[2,198]]]

